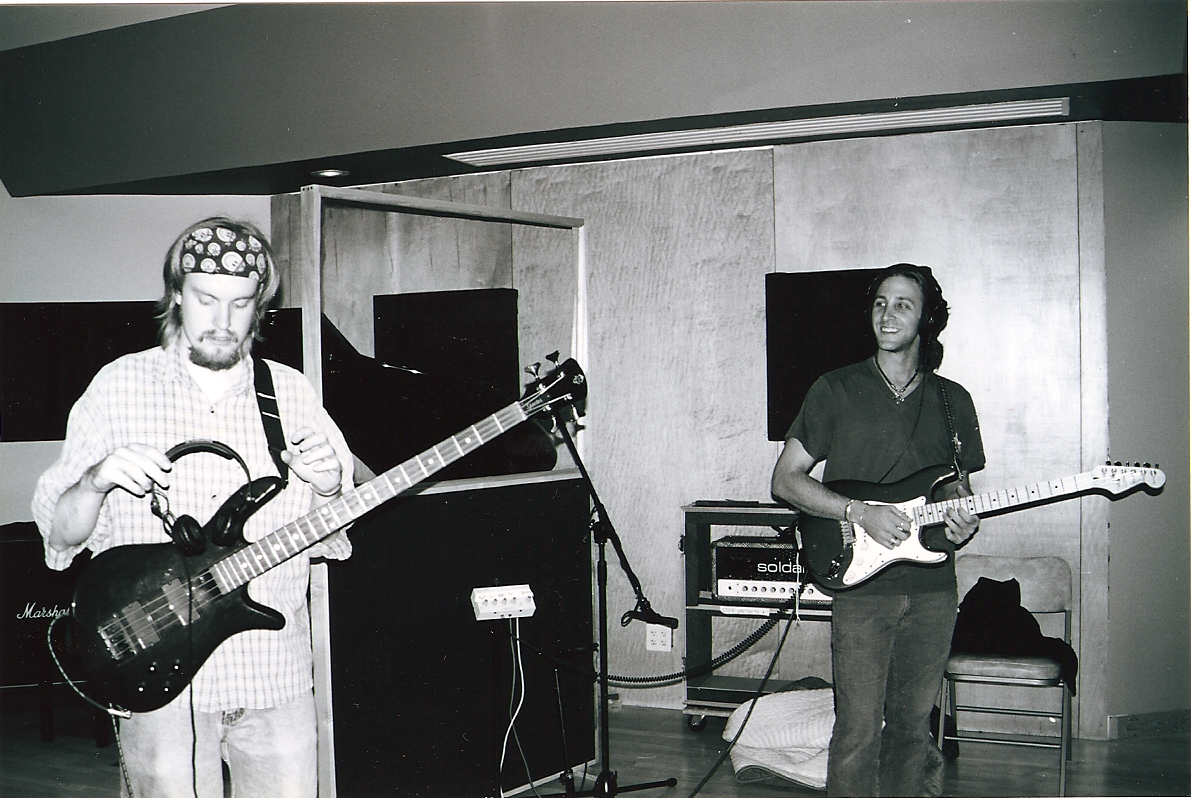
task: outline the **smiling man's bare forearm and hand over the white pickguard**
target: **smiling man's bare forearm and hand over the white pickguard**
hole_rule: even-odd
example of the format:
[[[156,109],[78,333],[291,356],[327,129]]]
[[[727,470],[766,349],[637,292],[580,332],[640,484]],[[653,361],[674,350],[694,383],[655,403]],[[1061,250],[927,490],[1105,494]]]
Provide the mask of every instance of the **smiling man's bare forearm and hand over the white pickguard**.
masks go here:
[[[829,490],[810,475],[815,463],[815,457],[806,451],[802,441],[788,438],[773,467],[773,495],[811,516],[860,524],[869,537],[887,549],[910,537],[909,516],[890,505],[850,501],[848,497]]]

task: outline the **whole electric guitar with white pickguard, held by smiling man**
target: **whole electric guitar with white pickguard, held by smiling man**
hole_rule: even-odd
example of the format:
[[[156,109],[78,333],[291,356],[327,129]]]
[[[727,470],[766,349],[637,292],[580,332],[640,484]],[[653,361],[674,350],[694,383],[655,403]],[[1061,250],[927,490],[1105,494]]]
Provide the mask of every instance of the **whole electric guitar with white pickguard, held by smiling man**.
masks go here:
[[[931,466],[888,485],[859,480],[828,482],[827,487],[849,499],[860,499],[866,504],[893,505],[910,517],[910,537],[892,549],[886,549],[869,537],[860,524],[803,515],[798,522],[798,531],[806,553],[806,566],[815,581],[833,590],[846,590],[862,585],[898,563],[946,562],[948,553],[929,548],[923,534],[943,523],[948,507],[964,507],[973,515],[991,516],[1077,493],[1103,491],[1118,494],[1142,484],[1151,488],[1160,488],[1166,484],[1166,475],[1156,467],[1151,468],[1149,463],[1145,467],[1140,463],[1134,467],[1117,463],[1100,466],[1074,476],[996,493],[946,501],[927,500],[940,485],[954,478],[955,469],[950,466]]]

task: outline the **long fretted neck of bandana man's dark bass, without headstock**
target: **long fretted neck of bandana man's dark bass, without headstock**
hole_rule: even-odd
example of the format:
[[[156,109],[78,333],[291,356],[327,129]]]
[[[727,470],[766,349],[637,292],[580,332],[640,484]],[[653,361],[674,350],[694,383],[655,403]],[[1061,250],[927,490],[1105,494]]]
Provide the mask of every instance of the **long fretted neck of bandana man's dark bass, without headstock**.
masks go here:
[[[526,418],[529,416],[522,403],[515,401],[260,541],[238,549],[211,566],[210,573],[224,593],[245,585],[250,579],[330,537],[366,512],[429,479]]]

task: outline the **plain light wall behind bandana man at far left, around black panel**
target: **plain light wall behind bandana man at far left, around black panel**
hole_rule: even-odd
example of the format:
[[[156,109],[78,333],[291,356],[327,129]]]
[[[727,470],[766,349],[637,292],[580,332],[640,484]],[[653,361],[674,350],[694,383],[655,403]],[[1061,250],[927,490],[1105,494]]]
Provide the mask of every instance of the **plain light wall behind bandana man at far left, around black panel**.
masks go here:
[[[229,213],[269,229],[264,197],[39,197],[0,189],[0,301],[157,299],[166,250],[182,229]],[[0,443],[0,524],[29,520],[56,442]]]

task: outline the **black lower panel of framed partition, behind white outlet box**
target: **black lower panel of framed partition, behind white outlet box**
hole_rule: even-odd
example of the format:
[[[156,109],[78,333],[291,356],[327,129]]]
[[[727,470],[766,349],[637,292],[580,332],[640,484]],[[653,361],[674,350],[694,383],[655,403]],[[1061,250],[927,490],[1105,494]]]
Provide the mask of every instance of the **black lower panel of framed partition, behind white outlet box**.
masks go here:
[[[594,759],[594,681],[566,667],[594,674],[588,513],[565,480],[397,499],[351,529],[351,559],[329,568],[339,796],[499,794],[509,622],[475,619],[475,587],[535,594],[516,727],[532,778]],[[510,741],[500,787],[529,780]]]

